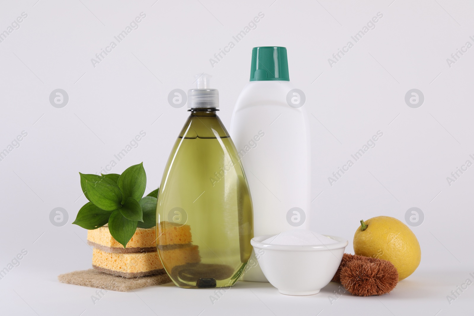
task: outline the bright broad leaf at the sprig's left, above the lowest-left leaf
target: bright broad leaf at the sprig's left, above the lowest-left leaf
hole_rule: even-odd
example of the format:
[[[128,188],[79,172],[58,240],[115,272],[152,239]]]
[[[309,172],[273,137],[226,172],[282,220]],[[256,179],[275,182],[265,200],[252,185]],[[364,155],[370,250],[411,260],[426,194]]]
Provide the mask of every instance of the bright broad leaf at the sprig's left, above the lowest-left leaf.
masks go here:
[[[122,192],[117,184],[110,185],[105,182],[86,182],[87,194],[95,206],[106,211],[114,211],[121,207]]]

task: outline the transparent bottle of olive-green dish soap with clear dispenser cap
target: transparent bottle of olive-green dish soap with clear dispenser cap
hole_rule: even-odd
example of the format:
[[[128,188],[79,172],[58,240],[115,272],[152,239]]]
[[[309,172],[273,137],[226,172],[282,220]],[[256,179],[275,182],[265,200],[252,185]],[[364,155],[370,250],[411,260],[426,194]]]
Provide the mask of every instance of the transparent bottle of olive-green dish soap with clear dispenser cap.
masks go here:
[[[253,209],[236,147],[217,116],[210,75],[188,90],[191,115],[164,169],[156,205],[156,245],[182,288],[233,285],[252,253]]]

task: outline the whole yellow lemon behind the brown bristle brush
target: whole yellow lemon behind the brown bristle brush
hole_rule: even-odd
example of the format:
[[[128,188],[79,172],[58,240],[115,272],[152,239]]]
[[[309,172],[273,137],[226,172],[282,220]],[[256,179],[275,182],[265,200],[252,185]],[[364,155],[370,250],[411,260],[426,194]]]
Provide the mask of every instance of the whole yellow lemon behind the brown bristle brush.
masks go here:
[[[415,234],[401,221],[377,216],[360,221],[354,234],[354,252],[361,256],[388,260],[403,280],[418,268],[421,250]]]

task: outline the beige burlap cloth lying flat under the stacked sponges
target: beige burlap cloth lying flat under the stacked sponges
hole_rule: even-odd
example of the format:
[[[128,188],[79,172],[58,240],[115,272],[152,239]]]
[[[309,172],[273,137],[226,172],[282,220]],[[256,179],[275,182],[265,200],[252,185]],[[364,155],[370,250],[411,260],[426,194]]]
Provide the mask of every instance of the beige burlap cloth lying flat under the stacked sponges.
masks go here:
[[[127,279],[103,273],[95,269],[60,274],[58,280],[63,283],[120,292],[171,282],[171,279],[166,273]]]

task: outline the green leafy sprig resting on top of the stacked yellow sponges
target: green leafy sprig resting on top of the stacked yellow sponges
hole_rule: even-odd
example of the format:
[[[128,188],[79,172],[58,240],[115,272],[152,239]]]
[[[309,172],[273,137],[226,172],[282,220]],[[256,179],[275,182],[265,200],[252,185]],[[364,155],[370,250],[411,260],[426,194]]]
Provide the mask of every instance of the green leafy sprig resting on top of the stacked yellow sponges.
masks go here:
[[[81,188],[90,201],[77,213],[73,224],[85,229],[109,225],[110,235],[126,247],[140,228],[156,225],[159,188],[143,197],[146,173],[143,163],[127,168],[122,174],[83,174]]]

